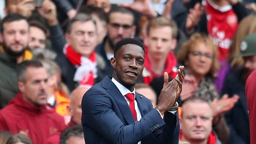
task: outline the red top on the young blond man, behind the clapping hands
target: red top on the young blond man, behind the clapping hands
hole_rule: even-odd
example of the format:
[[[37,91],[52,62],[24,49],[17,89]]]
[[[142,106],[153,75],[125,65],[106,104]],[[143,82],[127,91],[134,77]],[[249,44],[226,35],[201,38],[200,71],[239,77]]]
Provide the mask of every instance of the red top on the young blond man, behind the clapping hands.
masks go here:
[[[147,54],[147,47],[145,46],[145,62],[144,62],[145,68],[143,70],[143,82],[145,84],[150,84],[150,82],[156,78],[164,75],[164,72],[167,72],[169,77],[175,78],[177,74],[177,59],[175,55],[172,52],[169,52],[166,58],[165,62],[165,70],[161,74],[155,74],[153,72],[153,69],[151,67],[149,57]]]

